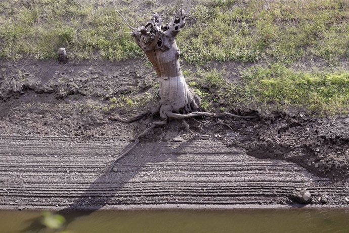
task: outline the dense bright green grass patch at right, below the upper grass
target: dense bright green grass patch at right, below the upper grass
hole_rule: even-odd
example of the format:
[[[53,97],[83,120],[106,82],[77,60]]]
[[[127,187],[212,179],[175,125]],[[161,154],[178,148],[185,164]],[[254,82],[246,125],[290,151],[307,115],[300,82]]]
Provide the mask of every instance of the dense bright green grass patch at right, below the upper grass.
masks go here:
[[[347,113],[349,72],[297,72],[283,65],[242,73],[246,100],[274,106],[305,107],[320,114]],[[240,93],[241,94],[241,93]]]

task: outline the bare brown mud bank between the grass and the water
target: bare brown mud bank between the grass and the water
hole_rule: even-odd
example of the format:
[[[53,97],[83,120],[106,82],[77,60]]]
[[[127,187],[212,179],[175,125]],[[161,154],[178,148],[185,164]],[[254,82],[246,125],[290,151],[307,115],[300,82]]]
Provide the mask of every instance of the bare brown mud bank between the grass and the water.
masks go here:
[[[124,112],[98,106],[149,90],[144,67],[2,61],[0,208],[280,207],[303,190],[310,206],[348,206],[348,118],[189,120],[196,135],[172,121],[104,174],[155,118],[109,122]]]

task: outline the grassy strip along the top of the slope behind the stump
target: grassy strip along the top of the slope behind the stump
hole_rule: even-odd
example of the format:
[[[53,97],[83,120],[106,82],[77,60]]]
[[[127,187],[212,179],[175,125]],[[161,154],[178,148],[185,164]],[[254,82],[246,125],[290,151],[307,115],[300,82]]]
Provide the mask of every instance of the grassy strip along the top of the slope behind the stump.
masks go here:
[[[116,1],[130,23],[155,11],[169,21],[182,1]],[[128,10],[132,9],[132,10]],[[146,9],[146,10],[144,10]],[[150,13],[149,13],[150,12]],[[322,1],[199,0],[178,36],[186,62],[256,62],[264,57],[291,63],[304,56],[328,62],[349,57],[349,3]],[[0,57],[53,59],[59,47],[71,58],[122,60],[143,56],[111,1],[3,0]]]

